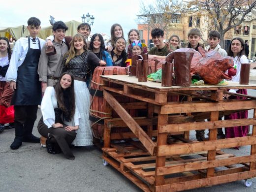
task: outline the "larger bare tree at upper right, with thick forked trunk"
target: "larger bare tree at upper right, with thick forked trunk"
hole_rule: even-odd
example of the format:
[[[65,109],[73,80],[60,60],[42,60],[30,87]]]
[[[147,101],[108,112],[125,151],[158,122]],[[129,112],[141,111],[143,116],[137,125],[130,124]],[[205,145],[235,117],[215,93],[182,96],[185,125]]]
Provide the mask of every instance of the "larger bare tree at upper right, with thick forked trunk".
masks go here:
[[[191,0],[184,10],[206,12],[208,22],[212,22],[215,30],[221,33],[220,45],[224,47],[224,34],[240,26],[245,19],[252,19],[256,0]]]

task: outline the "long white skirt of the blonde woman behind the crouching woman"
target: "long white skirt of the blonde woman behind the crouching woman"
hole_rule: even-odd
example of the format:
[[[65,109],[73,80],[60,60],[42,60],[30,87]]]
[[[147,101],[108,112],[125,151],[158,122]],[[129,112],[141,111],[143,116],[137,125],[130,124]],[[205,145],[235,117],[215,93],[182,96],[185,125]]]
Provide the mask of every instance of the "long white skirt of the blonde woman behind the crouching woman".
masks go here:
[[[90,112],[90,94],[86,82],[74,81],[75,103],[80,113],[79,129],[76,130],[75,140],[72,142],[75,146],[93,145],[93,134],[91,131],[91,122],[89,120]]]

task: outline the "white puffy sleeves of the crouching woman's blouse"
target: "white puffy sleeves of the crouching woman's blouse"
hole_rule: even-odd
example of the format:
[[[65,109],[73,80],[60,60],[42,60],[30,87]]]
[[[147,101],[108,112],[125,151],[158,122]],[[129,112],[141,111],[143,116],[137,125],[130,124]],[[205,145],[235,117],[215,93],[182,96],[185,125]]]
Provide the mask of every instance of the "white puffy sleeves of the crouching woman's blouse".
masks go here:
[[[48,128],[51,128],[52,125],[55,123],[55,108],[58,108],[55,90],[53,87],[47,87],[41,103],[41,112],[43,115],[43,122]],[[71,121],[71,126],[79,126],[80,118],[80,113],[76,107],[74,117]],[[67,124],[68,123],[69,122],[67,122]]]

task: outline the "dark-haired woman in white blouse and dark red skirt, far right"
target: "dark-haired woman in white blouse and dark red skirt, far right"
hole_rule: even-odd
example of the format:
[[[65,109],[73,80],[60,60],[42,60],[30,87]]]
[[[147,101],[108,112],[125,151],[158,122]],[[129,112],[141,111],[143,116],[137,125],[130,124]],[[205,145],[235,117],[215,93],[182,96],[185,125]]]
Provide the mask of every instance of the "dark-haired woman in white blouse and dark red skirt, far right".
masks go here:
[[[245,51],[244,51],[244,40],[239,37],[233,38],[229,45],[227,55],[230,57],[233,57],[234,66],[236,66],[236,69],[237,69],[236,75],[232,77],[232,81],[239,82],[241,64],[248,63],[248,59],[245,56]],[[247,95],[246,89],[230,89],[229,92]],[[245,99],[241,96],[230,96],[230,95],[226,95],[226,98]],[[248,111],[232,113],[230,115],[225,116],[225,120],[226,119],[247,119],[247,118],[248,118]],[[249,126],[230,127],[230,128],[225,128],[225,135],[226,135],[226,138],[242,137],[242,136],[246,136],[248,131],[249,131]]]

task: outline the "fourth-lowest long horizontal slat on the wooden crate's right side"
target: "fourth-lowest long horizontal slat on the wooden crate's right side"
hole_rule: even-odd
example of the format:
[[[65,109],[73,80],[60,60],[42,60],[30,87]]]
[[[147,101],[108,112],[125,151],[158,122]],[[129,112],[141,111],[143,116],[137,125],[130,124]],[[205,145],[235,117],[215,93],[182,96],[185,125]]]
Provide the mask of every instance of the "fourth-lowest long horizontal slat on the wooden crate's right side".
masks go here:
[[[247,126],[247,125],[256,125],[256,118],[168,124],[168,125],[160,126],[159,132],[172,133],[172,132],[187,131],[187,130],[200,130],[200,129],[206,129],[206,128],[212,129],[212,128],[224,128],[224,127]]]

